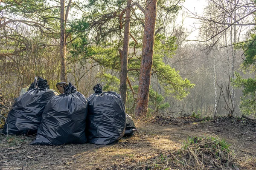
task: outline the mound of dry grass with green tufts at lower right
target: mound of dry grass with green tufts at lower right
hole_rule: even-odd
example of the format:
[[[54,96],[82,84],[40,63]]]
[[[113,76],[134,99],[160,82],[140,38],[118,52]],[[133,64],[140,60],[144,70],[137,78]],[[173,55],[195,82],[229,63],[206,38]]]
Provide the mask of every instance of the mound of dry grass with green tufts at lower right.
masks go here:
[[[191,169],[236,169],[230,145],[218,137],[192,137],[178,151],[176,159]]]

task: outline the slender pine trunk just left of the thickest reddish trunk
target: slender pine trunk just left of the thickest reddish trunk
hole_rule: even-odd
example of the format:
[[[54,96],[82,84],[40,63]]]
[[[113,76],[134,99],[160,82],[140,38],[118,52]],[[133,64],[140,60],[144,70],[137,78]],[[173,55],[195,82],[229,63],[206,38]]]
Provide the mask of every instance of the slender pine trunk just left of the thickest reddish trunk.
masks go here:
[[[127,0],[127,6],[131,6],[131,0]],[[123,50],[121,57],[121,78],[120,78],[120,95],[126,107],[127,96],[127,73],[128,73],[128,51],[129,51],[129,33],[130,33],[131,10],[128,8],[125,12],[125,32],[123,40]]]

